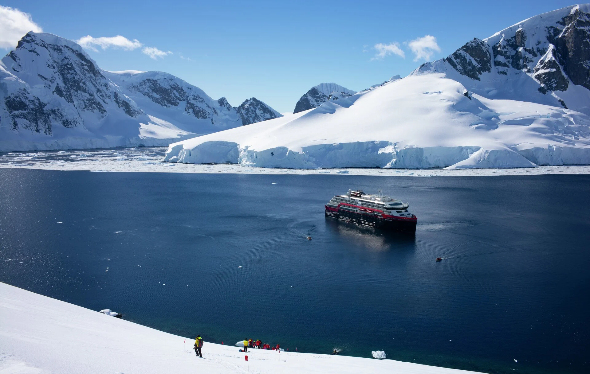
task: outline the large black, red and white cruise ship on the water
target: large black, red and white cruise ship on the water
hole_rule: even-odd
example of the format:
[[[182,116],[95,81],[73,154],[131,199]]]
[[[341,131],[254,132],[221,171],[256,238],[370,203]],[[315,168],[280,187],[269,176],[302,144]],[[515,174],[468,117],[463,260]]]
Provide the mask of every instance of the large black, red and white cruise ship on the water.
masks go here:
[[[353,222],[358,225],[378,227],[391,231],[416,232],[417,216],[408,212],[409,204],[401,200],[365,193],[360,189],[346,195],[336,195],[326,206],[326,216]]]

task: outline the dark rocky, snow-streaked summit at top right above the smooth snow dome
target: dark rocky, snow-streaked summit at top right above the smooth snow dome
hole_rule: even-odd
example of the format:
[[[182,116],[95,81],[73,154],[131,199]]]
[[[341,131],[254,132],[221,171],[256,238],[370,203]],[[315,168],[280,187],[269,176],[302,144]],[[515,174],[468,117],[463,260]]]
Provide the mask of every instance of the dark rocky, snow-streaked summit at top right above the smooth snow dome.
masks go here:
[[[451,71],[474,93],[517,96],[590,114],[590,4],[540,14],[484,40],[475,38],[412,74]]]

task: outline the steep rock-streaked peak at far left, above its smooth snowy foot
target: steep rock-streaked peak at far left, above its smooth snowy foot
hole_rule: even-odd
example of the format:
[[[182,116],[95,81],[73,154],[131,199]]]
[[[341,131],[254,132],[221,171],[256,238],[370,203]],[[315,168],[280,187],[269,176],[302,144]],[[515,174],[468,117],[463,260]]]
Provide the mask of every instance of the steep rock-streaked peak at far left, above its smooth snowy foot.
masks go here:
[[[143,114],[80,45],[57,35],[28,32],[1,65],[0,118],[10,120],[14,131],[51,135],[57,124],[84,127],[110,110],[134,118]],[[10,76],[18,81],[5,79]]]

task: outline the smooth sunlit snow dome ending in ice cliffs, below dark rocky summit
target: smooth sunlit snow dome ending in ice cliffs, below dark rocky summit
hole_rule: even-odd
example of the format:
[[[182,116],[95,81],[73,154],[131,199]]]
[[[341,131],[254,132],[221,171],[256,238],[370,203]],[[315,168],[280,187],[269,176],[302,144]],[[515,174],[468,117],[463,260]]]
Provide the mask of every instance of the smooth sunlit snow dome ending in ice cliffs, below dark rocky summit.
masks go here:
[[[339,101],[168,147],[165,160],[266,168],[523,168],[590,163],[590,117],[468,93],[417,74]]]

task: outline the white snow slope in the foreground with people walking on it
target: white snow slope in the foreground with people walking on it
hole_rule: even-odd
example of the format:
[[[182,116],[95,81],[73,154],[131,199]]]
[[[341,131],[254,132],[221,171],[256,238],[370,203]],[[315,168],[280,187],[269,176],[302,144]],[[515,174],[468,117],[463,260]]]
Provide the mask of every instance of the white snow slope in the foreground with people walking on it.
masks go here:
[[[0,372],[468,374],[394,360],[252,350],[181,337],[0,283]],[[195,333],[196,334],[196,333]],[[186,339],[186,345],[183,341]]]

